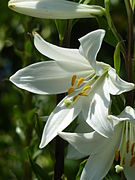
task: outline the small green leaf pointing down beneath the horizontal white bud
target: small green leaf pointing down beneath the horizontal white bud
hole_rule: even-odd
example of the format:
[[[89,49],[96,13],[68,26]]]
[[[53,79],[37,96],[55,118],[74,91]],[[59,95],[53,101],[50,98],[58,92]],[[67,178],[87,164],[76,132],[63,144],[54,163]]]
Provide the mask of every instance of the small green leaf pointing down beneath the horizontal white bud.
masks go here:
[[[67,20],[57,19],[57,20],[55,20],[55,24],[56,24],[56,27],[57,27],[57,31],[59,33],[59,39],[60,39],[60,41],[63,41],[65,31],[66,31],[66,28],[67,28]]]

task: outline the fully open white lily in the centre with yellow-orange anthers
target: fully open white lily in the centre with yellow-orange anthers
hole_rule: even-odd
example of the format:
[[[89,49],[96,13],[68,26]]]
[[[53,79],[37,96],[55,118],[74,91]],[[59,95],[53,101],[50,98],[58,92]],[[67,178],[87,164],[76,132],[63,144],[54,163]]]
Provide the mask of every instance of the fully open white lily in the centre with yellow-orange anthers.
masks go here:
[[[134,84],[123,81],[108,64],[96,61],[104,35],[104,30],[93,31],[79,39],[79,49],[69,49],[50,44],[34,33],[35,47],[53,61],[27,66],[11,76],[10,81],[36,94],[68,92],[49,116],[40,147],[47,145],[81,111],[93,129],[103,136],[111,135],[112,124],[107,120],[110,94],[130,91]]]

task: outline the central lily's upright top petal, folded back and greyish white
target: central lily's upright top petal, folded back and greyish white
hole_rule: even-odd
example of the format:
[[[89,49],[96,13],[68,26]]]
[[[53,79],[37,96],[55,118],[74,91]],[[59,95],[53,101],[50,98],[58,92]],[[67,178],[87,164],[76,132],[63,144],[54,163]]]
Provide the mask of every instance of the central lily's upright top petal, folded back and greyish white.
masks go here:
[[[99,29],[92,31],[79,39],[81,43],[79,48],[80,53],[89,61],[90,65],[97,74],[103,73],[102,66],[96,63],[96,57],[100,50],[104,35],[105,31],[103,29]]]

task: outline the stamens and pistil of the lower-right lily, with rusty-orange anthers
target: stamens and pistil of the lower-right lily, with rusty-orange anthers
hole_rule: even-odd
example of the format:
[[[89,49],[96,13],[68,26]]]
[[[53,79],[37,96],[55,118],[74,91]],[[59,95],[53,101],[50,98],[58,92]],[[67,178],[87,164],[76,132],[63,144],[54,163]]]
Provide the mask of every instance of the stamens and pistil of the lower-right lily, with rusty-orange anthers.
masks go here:
[[[119,173],[120,170],[123,170],[125,163],[129,163],[129,166],[132,167],[135,165],[135,126],[129,122],[125,122],[122,140],[120,143],[119,150],[115,151],[115,161],[120,159],[120,165],[116,165],[116,172]],[[126,162],[125,156],[129,157],[130,161]]]

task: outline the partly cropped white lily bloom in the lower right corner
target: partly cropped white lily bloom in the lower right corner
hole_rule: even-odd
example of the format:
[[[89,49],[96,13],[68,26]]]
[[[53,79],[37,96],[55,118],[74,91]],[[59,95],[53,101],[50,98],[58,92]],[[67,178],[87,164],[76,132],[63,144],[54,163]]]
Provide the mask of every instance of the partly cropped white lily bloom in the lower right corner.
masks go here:
[[[124,171],[127,180],[135,178],[135,110],[127,106],[120,115],[110,115],[108,118],[114,126],[114,133],[110,138],[89,130],[86,125],[86,133],[59,133],[60,137],[71,144],[69,158],[89,156],[81,180],[103,179],[114,159],[116,163],[120,161],[120,164],[115,166],[117,173]],[[81,127],[82,131],[83,125]]]

